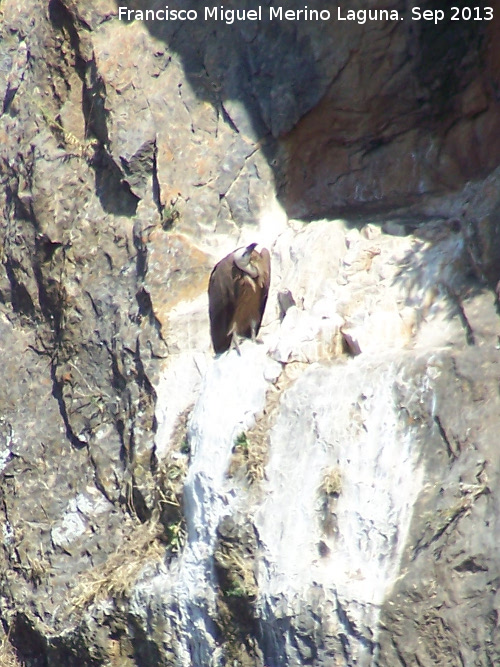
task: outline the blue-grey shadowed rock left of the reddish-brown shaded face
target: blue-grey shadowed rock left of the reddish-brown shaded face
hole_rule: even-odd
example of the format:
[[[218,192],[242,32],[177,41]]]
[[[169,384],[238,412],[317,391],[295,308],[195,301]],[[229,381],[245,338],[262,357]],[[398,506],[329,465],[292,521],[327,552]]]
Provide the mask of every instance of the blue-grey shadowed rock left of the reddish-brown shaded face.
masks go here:
[[[194,21],[144,20],[150,34],[178,54],[184,73],[198,99],[210,103],[234,131],[242,131],[240,119],[233,112],[242,105],[251,122],[255,142],[262,150],[280,180],[276,159],[277,141],[284,137],[325,94],[329,85],[329,63],[318,60],[315,36],[331,31],[324,21],[269,20],[269,6],[274,3],[229,2],[214,4],[188,0],[182,10],[196,12]],[[333,11],[333,3],[330,3]],[[126,23],[137,11],[164,10],[163,2],[116,2]],[[328,3],[327,3],[328,5]],[[262,20],[227,21],[228,12],[257,10]],[[181,5],[176,6],[179,9]],[[324,9],[324,3],[312,0],[311,10]],[[217,10],[217,19],[205,19],[205,8]],[[287,10],[303,9],[300,0],[286,3]],[[170,6],[174,9],[174,6]],[[213,15],[212,15],[213,16]],[[332,35],[333,37],[333,35]]]

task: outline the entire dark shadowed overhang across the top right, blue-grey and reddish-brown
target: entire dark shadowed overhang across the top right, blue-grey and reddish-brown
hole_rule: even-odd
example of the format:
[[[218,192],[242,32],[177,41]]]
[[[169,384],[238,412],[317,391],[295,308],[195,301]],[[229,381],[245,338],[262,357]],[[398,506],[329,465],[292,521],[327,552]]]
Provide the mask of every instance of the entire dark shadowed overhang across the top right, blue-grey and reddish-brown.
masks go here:
[[[464,143],[457,152],[468,155],[440,155],[453,153],[447,135],[461,114],[488,115],[496,101],[494,82],[483,77],[494,34],[486,20],[488,3],[475,3],[467,20],[469,4],[453,3],[452,14],[449,3],[424,1],[421,13],[438,17],[441,11],[443,18],[413,20],[414,3],[400,0],[393,4],[399,20],[363,22],[359,13],[357,20],[340,20],[347,8],[333,2],[293,0],[283,10],[307,7],[309,14],[297,20],[277,20],[274,14],[270,20],[270,11],[280,6],[274,0],[224,5],[188,0],[182,9],[196,12],[196,20],[143,25],[178,54],[197,98],[212,104],[236,131],[240,122],[233,109],[236,103],[245,108],[290,217],[349,218],[418,208],[429,196],[483,178],[500,161],[500,141],[492,145],[486,128],[478,141],[489,144],[489,154],[484,147],[472,154],[476,138],[467,128],[457,139]],[[165,8],[147,0],[116,0],[116,5],[125,22]],[[237,9],[241,17],[259,6],[258,21],[229,14]],[[217,19],[206,17],[206,8],[217,9]],[[349,3],[351,8],[362,12],[366,3]],[[329,20],[313,18],[311,12],[321,10],[330,12]],[[464,110],[461,96],[478,77],[489,85],[490,99],[482,108]],[[411,133],[418,136],[408,142]],[[450,166],[450,160],[457,164]]]

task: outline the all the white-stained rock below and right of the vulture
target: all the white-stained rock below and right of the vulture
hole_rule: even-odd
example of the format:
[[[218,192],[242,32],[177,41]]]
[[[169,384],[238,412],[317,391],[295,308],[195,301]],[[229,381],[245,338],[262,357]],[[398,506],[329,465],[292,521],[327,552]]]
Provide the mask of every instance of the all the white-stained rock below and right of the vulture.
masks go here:
[[[170,619],[180,642],[176,664],[186,667],[224,664],[213,624],[216,530],[224,515],[248,502],[226,473],[235,438],[253,424],[269,381],[280,373],[270,353],[282,363],[315,363],[299,364],[306,370],[281,395],[266,479],[255,496],[260,501],[244,508],[260,542],[256,613],[266,664],[285,664],[285,655],[289,664],[301,664],[294,622],[289,636],[283,630],[294,617],[321,626],[338,664],[376,660],[380,609],[400,574],[423,484],[420,443],[398,406],[397,388],[411,382],[409,393],[424,396],[423,378],[410,373],[408,380],[405,368],[416,368],[418,354],[463,336],[456,317],[451,326],[446,300],[460,272],[458,234],[433,245],[370,225],[361,231],[346,231],[340,221],[294,226],[273,247],[265,345],[245,342],[241,357],[231,352],[208,361],[200,383],[203,365],[179,342],[185,356],[170,362],[158,393],[160,458],[177,415],[195,402],[185,482],[188,542],[168,572],[138,587],[137,602],[144,608],[145,596],[154,613]],[[276,297],[285,289],[296,306],[280,323]],[[342,336],[359,356],[346,358]],[[320,489],[332,471],[339,493],[325,500]],[[318,599],[322,606],[313,612]]]

